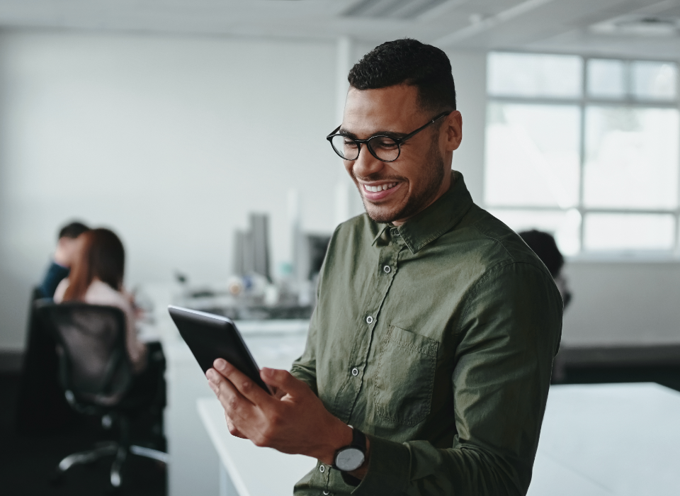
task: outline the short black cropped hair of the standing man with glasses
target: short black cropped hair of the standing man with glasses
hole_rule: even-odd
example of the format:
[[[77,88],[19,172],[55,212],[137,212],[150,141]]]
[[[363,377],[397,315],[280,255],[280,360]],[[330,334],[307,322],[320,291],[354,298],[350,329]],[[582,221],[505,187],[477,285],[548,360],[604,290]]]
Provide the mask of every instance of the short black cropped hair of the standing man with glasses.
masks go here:
[[[418,40],[402,38],[378,45],[354,64],[347,79],[359,90],[416,86],[424,110],[455,111],[451,62],[442,50]]]

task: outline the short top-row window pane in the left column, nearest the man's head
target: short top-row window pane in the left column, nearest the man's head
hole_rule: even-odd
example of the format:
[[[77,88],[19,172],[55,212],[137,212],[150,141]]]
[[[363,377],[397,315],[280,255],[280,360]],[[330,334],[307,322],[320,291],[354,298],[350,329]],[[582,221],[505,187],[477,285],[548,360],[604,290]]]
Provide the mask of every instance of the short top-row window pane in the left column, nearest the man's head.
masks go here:
[[[492,95],[579,98],[582,64],[574,55],[492,52],[487,89]]]

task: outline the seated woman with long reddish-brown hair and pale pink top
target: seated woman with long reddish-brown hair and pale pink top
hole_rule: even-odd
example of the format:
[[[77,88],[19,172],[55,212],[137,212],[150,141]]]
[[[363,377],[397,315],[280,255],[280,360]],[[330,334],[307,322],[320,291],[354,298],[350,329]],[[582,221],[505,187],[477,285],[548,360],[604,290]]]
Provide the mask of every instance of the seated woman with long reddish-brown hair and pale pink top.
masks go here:
[[[55,303],[81,301],[92,305],[118,307],[125,312],[125,342],[135,373],[147,365],[147,346],[137,338],[137,316],[132,295],[123,289],[125,249],[118,236],[108,229],[93,229],[77,238],[78,254],[69,277],[57,286]]]

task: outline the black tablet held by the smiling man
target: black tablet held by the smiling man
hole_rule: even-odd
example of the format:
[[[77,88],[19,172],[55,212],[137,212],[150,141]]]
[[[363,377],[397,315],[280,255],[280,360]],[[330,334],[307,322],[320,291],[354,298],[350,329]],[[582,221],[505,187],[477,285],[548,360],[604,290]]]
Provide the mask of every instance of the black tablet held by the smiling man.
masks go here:
[[[260,368],[231,319],[174,305],[169,305],[168,311],[203,373],[212,368],[216,359],[225,359],[271,394],[260,377]]]

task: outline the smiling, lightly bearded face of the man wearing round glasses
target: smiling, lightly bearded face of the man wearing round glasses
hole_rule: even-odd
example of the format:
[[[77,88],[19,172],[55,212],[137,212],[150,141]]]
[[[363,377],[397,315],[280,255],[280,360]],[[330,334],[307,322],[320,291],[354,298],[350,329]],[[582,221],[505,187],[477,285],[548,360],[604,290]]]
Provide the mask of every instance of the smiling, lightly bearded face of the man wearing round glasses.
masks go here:
[[[420,108],[414,86],[351,88],[339,133],[360,140],[382,133],[401,137],[433,117],[435,115]],[[446,193],[450,186],[447,170],[450,170],[453,150],[447,150],[446,136],[440,139],[440,126],[446,133],[444,128],[448,126],[448,119],[441,121],[404,142],[395,162],[381,162],[365,145],[361,145],[356,160],[344,161],[370,218],[399,225]]]

